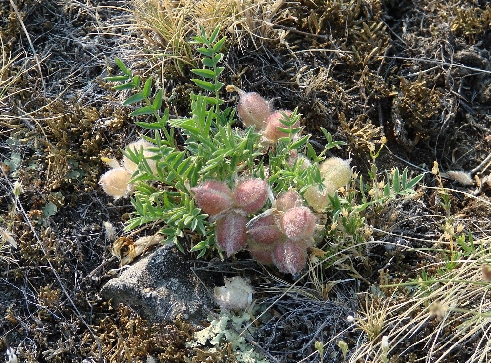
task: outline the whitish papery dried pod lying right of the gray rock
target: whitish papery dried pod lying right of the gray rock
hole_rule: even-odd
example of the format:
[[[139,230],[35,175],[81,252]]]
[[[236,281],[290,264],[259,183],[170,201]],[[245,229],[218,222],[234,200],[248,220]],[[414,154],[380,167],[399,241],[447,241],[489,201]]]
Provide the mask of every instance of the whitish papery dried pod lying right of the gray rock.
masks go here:
[[[225,286],[213,289],[213,295],[220,308],[243,310],[252,304],[252,287],[250,282],[239,277],[224,279]]]

